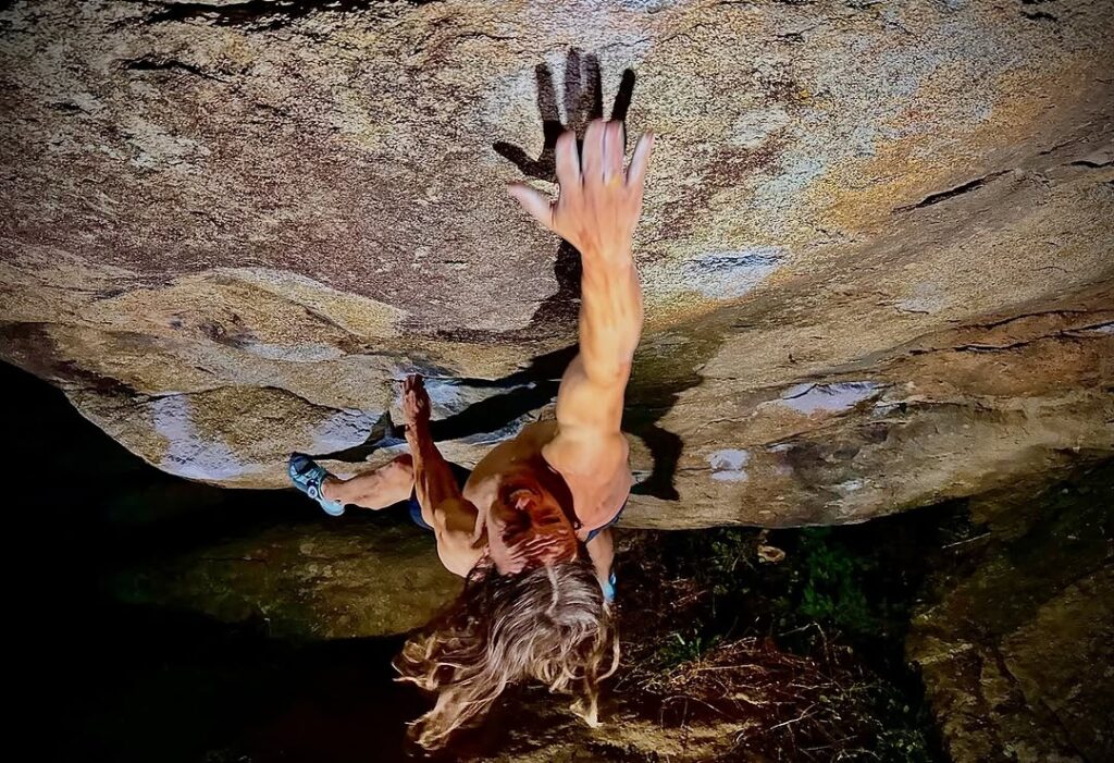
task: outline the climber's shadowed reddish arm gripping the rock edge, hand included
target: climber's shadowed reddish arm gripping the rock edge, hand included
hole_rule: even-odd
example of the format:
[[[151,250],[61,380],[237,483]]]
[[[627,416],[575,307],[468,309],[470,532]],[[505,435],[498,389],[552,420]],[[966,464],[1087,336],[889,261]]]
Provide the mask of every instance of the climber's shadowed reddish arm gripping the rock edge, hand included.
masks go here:
[[[433,528],[437,552],[450,573],[466,576],[479,560],[473,548],[477,510],[465,500],[448,461],[429,433],[429,395],[421,376],[407,376],[402,392],[407,442],[414,463],[414,492],[422,519]]]

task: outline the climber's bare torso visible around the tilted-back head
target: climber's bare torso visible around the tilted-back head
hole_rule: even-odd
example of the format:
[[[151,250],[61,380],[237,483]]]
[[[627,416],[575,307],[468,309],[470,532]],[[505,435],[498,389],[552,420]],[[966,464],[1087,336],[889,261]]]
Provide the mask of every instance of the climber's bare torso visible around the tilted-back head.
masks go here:
[[[582,522],[578,531],[580,540],[615,518],[631,493],[626,438],[614,438],[612,447],[604,449],[590,473],[576,473],[568,464],[554,463],[555,460],[559,461],[559,457],[555,458],[554,453],[547,452],[546,446],[556,434],[556,420],[527,424],[515,439],[500,443],[476,464],[465,485],[463,495],[479,511],[478,525],[487,520],[487,511],[496,498],[499,476],[524,463],[536,463],[538,457],[565,478],[573,493],[573,509]]]

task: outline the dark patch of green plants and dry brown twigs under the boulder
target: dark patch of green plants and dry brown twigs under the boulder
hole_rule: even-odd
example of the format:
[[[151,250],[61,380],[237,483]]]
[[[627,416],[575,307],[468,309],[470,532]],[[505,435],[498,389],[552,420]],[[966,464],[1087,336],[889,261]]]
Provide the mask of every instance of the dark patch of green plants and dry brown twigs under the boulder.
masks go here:
[[[772,760],[941,760],[902,644],[939,528],[961,526],[944,507],[857,527],[635,541],[620,579],[645,587],[627,599],[638,612],[624,612],[637,634],[625,681],[663,708],[684,700],[678,723],[701,708],[732,718],[739,749]]]

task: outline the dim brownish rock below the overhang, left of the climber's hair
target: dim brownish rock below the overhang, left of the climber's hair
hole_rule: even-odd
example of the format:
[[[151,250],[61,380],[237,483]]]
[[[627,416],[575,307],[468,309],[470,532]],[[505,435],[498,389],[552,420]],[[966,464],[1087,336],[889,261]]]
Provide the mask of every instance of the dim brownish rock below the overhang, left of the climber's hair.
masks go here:
[[[265,624],[270,636],[365,638],[423,625],[460,591],[428,534],[399,525],[291,525],[121,570],[115,596]]]

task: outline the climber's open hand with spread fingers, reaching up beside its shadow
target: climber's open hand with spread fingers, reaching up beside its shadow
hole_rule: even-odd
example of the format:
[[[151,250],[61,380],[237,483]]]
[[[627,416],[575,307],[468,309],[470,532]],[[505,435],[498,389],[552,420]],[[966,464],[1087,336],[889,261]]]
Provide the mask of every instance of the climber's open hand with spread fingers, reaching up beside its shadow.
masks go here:
[[[576,134],[564,133],[557,139],[555,156],[558,198],[551,200],[521,183],[510,186],[510,195],[582,256],[629,255],[654,136],[647,133],[638,139],[626,169],[624,146],[624,128],[618,121],[593,120],[584,136],[583,153],[577,151]]]

